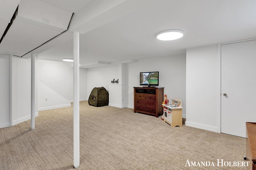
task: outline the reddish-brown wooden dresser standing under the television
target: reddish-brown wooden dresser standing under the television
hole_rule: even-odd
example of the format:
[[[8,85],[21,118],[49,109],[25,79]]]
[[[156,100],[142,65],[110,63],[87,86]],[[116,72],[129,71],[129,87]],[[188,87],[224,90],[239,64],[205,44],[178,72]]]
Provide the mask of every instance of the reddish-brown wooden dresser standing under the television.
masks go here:
[[[134,113],[163,114],[164,88],[134,87]]]

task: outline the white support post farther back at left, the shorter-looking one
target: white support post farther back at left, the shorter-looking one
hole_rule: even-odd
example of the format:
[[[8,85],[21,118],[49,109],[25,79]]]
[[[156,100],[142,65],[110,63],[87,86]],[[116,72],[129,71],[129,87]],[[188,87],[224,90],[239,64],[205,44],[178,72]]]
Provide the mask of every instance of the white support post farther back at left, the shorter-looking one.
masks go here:
[[[35,129],[35,65],[36,55],[31,54],[31,130]]]

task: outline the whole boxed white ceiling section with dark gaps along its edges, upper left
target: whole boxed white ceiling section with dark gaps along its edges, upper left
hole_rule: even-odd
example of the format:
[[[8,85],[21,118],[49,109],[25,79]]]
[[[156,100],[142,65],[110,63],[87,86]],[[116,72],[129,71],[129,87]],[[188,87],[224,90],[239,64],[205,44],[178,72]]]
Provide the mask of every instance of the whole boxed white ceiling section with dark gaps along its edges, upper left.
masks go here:
[[[66,31],[72,14],[41,0],[20,0],[17,15],[0,44],[0,53],[22,57]]]

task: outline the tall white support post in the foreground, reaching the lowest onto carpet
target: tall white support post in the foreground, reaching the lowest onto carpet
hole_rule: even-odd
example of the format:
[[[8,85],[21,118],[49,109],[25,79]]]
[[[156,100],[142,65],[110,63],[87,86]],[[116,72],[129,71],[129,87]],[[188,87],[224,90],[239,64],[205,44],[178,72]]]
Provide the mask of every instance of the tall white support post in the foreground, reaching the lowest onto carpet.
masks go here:
[[[79,126],[79,33],[73,33],[74,55],[74,168],[80,166],[80,126]]]

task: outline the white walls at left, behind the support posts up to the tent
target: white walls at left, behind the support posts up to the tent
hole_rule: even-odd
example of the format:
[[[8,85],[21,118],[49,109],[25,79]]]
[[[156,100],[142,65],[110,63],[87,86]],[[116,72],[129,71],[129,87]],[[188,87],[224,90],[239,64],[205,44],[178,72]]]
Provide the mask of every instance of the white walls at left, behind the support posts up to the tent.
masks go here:
[[[9,121],[9,78],[12,80],[12,125],[16,125],[30,119],[31,116],[31,59],[12,57],[12,75],[9,77],[9,55],[0,56],[0,90],[3,101],[0,102],[0,128],[10,125]],[[37,62],[38,61],[38,62]],[[38,108],[53,109],[70,106],[73,100],[73,68],[70,63],[51,62],[36,60],[38,63],[38,104],[36,103],[36,113]],[[67,76],[66,76],[67,75]],[[68,96],[63,98],[49,86],[40,80],[57,89],[60,94]],[[66,86],[68,84],[68,86]],[[45,96],[47,94],[47,96]],[[45,97],[49,97],[48,103]],[[53,99],[54,98],[54,99]],[[80,68],[80,100],[87,100],[87,71]],[[52,102],[51,102],[52,101]],[[66,105],[68,102],[69,105]],[[63,104],[64,103],[64,104]],[[2,106],[3,104],[3,106]],[[7,112],[7,113],[6,113]],[[3,124],[4,123],[4,124]]]

